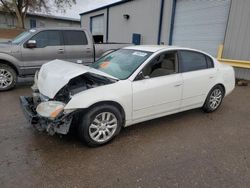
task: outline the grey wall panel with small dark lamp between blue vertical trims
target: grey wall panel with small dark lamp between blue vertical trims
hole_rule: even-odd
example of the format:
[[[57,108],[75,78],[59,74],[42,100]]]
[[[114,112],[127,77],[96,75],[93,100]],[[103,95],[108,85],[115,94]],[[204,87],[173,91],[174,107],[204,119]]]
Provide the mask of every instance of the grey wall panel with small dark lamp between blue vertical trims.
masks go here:
[[[136,0],[109,10],[109,41],[132,42],[132,34],[141,34],[142,44],[157,44],[161,0]],[[130,18],[124,19],[128,14]]]

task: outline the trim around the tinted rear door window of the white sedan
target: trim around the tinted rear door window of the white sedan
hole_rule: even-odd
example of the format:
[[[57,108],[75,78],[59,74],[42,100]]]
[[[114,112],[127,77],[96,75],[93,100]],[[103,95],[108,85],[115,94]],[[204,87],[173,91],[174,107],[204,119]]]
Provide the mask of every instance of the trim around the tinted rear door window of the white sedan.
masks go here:
[[[179,72],[180,73],[188,73],[188,72],[194,72],[194,71],[202,71],[202,70],[207,70],[207,69],[212,69],[214,68],[214,61],[211,57],[209,57],[208,55],[199,52],[199,51],[195,51],[195,50],[188,50],[188,49],[180,49],[177,50],[178,51],[178,63],[179,63]],[[181,55],[180,52],[182,51],[186,51],[186,52],[193,52],[193,53],[197,53],[197,54],[201,54],[202,56],[204,56],[205,60],[206,60],[206,68],[205,69],[198,69],[198,70],[192,70],[192,71],[183,71],[183,67],[182,67],[182,61],[181,61]],[[207,58],[209,58],[212,62],[212,67],[208,67],[208,62],[207,62]]]

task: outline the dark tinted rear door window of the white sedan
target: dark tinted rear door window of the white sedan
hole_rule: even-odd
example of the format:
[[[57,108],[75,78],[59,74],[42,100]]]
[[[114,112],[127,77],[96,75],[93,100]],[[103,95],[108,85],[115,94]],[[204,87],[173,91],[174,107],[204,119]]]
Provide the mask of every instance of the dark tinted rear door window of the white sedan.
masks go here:
[[[179,60],[182,72],[197,71],[208,68],[206,56],[199,52],[179,51]]]

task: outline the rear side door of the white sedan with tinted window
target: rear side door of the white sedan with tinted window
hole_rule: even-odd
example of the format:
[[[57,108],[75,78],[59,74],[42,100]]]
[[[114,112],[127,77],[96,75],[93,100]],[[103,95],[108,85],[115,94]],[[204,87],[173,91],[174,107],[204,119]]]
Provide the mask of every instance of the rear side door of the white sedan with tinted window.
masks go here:
[[[178,56],[183,78],[181,108],[200,107],[214,86],[216,69],[213,60],[203,53],[190,50],[180,50]]]

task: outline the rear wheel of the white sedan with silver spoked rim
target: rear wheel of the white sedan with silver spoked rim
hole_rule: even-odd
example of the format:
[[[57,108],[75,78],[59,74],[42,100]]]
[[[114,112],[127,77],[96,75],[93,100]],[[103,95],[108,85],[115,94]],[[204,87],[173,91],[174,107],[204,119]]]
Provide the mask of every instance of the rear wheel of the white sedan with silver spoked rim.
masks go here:
[[[222,86],[216,85],[209,92],[206,101],[202,107],[204,112],[210,113],[216,111],[224,98],[225,91]]]

